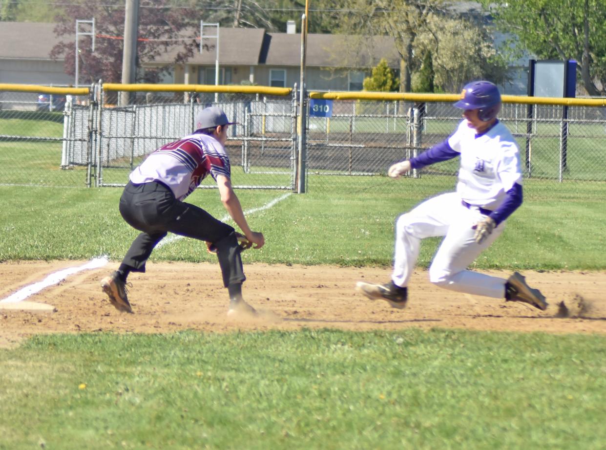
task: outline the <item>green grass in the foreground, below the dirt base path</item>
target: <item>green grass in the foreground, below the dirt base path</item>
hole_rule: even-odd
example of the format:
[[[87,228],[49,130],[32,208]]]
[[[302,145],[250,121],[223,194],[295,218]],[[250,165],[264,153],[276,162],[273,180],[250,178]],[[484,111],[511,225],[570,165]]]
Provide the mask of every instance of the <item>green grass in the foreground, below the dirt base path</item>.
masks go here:
[[[606,338],[48,335],[0,351],[0,449],[603,448]]]

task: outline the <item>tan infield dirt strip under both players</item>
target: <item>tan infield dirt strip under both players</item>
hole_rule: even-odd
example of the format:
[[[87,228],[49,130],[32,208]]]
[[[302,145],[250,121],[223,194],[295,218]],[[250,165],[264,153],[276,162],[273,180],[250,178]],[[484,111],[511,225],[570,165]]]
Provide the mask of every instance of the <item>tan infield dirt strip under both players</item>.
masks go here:
[[[0,300],[21,287],[84,261],[21,261],[0,264]],[[227,317],[227,290],[218,264],[148,263],[131,274],[129,300],[135,314],[116,311],[99,284],[118,266],[109,263],[47,287],[28,301],[52,304],[54,312],[0,311],[0,346],[33,334],[56,332],[162,333],[338,328],[356,331],[440,327],[474,330],[606,334],[606,272],[522,271],[547,297],[547,311],[524,303],[460,294],[433,286],[416,270],[408,306],[398,310],[355,292],[356,281],[384,283],[390,269],[245,264],[244,297],[261,312],[255,320]],[[507,278],[510,272],[487,271]],[[579,299],[582,307],[578,307]],[[559,303],[573,303],[580,317],[561,317]],[[576,302],[576,303],[574,303]]]

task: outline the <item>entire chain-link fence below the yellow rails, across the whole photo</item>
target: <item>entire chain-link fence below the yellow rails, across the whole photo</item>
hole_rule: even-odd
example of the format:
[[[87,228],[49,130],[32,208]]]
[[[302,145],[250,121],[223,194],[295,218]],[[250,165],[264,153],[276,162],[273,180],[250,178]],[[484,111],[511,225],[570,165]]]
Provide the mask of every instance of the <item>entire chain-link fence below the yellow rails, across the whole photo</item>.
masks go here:
[[[264,87],[253,88],[256,93],[185,89],[129,93],[127,106],[117,106],[119,88],[101,84],[90,95],[65,90],[52,98],[0,89],[0,184],[124,186],[145,156],[191,133],[199,110],[216,104],[238,122],[226,144],[234,186],[296,190],[303,167],[305,190],[355,192],[382,186],[391,163],[443,141],[461,121],[444,96],[335,99],[331,116],[307,115],[302,133],[296,89],[281,95],[263,93]],[[544,190],[553,183],[606,187],[605,107],[515,100],[504,103],[499,118],[518,141],[527,181]],[[306,152],[298,161],[301,139]],[[409,176],[442,177],[454,186],[457,171],[458,160],[451,160]],[[201,185],[213,186],[210,179]]]

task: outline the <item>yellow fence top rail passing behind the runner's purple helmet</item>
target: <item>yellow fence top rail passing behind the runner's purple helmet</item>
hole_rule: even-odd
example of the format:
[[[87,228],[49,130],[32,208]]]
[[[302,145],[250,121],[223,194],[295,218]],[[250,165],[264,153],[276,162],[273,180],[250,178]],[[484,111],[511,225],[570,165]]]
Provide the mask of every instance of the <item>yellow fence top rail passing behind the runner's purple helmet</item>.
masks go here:
[[[420,94],[401,92],[310,92],[310,98],[327,100],[387,100],[414,102],[455,102],[461,94]],[[561,105],[561,106],[606,106],[606,98],[556,98],[528,97],[525,95],[502,95],[504,103]]]

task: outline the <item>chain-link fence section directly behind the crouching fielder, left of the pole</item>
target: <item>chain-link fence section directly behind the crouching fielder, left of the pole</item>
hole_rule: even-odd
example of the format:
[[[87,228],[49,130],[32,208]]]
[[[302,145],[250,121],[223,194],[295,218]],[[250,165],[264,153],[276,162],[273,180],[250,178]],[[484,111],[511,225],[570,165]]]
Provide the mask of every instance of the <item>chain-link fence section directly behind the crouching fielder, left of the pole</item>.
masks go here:
[[[138,93],[131,97],[132,104],[115,107],[117,94],[101,93],[102,106],[93,121],[96,152],[92,166],[97,186],[123,186],[128,173],[145,156],[190,134],[198,113],[214,105],[236,121],[228,129],[225,144],[233,185],[241,189],[293,189],[296,156],[293,96]],[[74,156],[84,155],[82,148],[77,150]],[[72,162],[84,163],[76,158]],[[201,187],[215,187],[215,183],[207,178]]]

